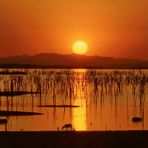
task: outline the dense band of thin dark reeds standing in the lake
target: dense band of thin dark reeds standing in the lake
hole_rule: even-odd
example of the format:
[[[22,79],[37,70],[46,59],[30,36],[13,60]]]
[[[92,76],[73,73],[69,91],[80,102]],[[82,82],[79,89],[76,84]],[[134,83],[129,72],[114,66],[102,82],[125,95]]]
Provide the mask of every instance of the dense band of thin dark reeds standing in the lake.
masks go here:
[[[21,70],[19,73],[13,70],[0,73],[0,106],[1,98],[5,97],[7,110],[15,104],[14,97],[17,95],[31,95],[32,108],[34,107],[35,96],[39,98],[37,106],[57,106],[57,99],[61,98],[63,106],[73,106],[73,101],[81,94],[86,99],[86,106],[94,101],[97,105],[100,101],[102,106],[105,96],[112,96],[111,102],[118,104],[118,95],[122,94],[125,86],[131,86],[134,104],[138,93],[141,116],[144,117],[144,93],[148,84],[148,73],[142,70],[94,70],[88,69],[85,72],[75,70]],[[90,87],[91,86],[91,87]],[[47,102],[43,96],[48,96]],[[66,100],[69,104],[66,104]],[[49,104],[52,100],[52,104]],[[22,102],[22,104],[24,104]],[[60,104],[61,105],[61,104]],[[77,105],[77,104],[76,104]]]

